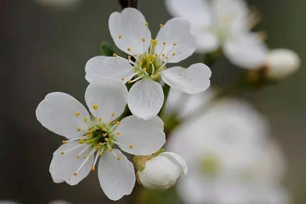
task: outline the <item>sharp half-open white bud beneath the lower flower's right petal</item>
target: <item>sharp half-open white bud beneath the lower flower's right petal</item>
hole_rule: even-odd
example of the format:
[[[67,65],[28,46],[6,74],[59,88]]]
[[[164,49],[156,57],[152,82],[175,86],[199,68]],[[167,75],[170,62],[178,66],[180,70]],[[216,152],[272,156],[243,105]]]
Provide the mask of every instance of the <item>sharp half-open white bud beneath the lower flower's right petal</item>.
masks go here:
[[[180,175],[186,175],[186,161],[173,152],[162,152],[146,161],[144,169],[138,170],[140,183],[148,189],[168,189]]]

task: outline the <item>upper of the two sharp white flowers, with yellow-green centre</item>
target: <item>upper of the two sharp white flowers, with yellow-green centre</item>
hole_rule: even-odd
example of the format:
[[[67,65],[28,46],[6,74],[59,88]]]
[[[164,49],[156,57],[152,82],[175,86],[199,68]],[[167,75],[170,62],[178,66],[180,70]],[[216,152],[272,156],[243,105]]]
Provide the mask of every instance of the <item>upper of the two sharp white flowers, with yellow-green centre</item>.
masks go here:
[[[143,119],[154,117],[163,106],[161,79],[189,94],[205,91],[210,86],[211,70],[205,64],[193,64],[187,69],[165,67],[167,63],[180,62],[193,54],[196,43],[190,33],[190,23],[172,18],[160,27],[156,39],[152,40],[148,23],[140,11],[126,8],[121,13],[112,13],[109,18],[111,36],[116,46],[129,55],[128,59],[116,54],[114,57],[97,56],[85,67],[89,83],[103,78],[136,82],[127,96],[127,105],[134,115]]]

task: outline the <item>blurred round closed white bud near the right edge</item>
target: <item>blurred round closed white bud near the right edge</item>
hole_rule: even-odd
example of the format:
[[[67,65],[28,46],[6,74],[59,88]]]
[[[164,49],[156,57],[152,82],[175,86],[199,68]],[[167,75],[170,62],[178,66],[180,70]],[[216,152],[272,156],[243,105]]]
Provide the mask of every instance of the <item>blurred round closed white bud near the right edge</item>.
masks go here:
[[[301,60],[290,49],[274,49],[266,56],[267,77],[280,80],[297,71]]]

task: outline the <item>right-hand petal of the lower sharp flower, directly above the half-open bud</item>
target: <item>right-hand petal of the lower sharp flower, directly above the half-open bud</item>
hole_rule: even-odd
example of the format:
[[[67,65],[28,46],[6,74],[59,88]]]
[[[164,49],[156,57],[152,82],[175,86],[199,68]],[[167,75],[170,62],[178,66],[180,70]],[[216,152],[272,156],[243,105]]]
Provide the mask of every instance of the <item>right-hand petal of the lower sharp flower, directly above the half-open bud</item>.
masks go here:
[[[143,120],[133,115],[125,117],[116,131],[120,132],[116,140],[124,144],[119,147],[132,155],[153,154],[166,142],[164,123],[158,116],[150,120]],[[130,145],[133,147],[130,148]]]

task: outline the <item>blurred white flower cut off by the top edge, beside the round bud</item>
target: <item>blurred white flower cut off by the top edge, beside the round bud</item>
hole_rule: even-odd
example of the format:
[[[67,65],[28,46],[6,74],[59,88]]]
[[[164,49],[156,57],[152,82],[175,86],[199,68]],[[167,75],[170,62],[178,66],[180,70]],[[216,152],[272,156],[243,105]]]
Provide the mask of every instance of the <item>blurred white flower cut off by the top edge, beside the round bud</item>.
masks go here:
[[[250,18],[243,0],[167,0],[173,16],[190,21],[197,52],[210,53],[222,47],[225,56],[242,68],[258,68],[267,48],[260,37],[249,32]]]

